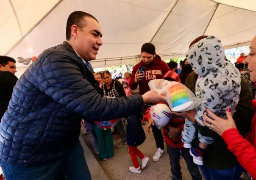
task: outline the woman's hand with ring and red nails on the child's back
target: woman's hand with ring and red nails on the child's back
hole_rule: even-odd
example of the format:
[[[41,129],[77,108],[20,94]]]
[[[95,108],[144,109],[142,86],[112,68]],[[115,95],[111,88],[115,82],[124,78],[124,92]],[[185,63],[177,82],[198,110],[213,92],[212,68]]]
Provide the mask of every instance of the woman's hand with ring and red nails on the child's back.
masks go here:
[[[208,117],[205,113],[203,114],[204,119],[203,123],[206,125],[206,127],[210,127],[213,131],[215,131],[217,134],[219,134],[220,136],[222,136],[222,134],[227,131],[228,129],[231,128],[237,128],[233,117],[231,115],[230,109],[227,109],[227,120],[224,120],[220,117],[217,117],[216,115],[214,115],[213,112],[211,112],[209,109],[206,109],[206,111],[208,112],[208,114],[210,115],[210,117]],[[213,119],[213,120],[212,120]]]

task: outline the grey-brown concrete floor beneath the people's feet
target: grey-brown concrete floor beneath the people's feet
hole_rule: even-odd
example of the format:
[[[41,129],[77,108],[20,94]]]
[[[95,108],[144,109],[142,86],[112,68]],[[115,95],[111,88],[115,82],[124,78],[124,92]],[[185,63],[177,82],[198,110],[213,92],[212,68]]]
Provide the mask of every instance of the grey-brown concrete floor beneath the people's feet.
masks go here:
[[[143,126],[144,129],[146,126]],[[122,147],[114,147],[115,158],[113,160],[100,161],[95,155],[95,158],[99,161],[100,166],[103,168],[107,177],[110,180],[170,180],[170,160],[168,154],[165,152],[163,157],[158,162],[153,162],[152,157],[156,151],[156,144],[153,137],[153,133],[147,134],[145,142],[139,146],[139,150],[142,151],[147,157],[150,158],[146,168],[141,174],[134,174],[129,171],[129,167],[132,166],[131,157],[128,153],[128,145]],[[92,143],[89,135],[82,135],[86,144],[92,150]],[[116,145],[117,142],[114,142]],[[166,149],[165,149],[166,150]],[[140,163],[140,160],[139,160]],[[192,180],[183,158],[181,158],[181,172],[183,180]]]

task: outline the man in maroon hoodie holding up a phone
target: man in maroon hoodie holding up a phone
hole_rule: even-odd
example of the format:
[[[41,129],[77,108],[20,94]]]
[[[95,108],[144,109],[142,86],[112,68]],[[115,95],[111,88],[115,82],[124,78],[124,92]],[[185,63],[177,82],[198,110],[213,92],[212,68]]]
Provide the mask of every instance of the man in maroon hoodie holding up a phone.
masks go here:
[[[170,71],[167,63],[161,60],[159,55],[156,55],[156,47],[151,43],[145,43],[141,47],[142,60],[136,64],[132,71],[132,76],[130,80],[131,90],[135,90],[139,85],[139,94],[143,95],[150,90],[148,82],[152,79],[162,79],[164,74]],[[139,67],[144,69],[144,74],[139,74]],[[145,104],[142,109],[142,113],[145,114],[145,111],[152,104]],[[152,130],[154,138],[156,141],[157,151],[153,155],[153,161],[159,161],[161,156],[164,153],[164,139],[161,131],[156,128],[155,125],[152,125]]]

